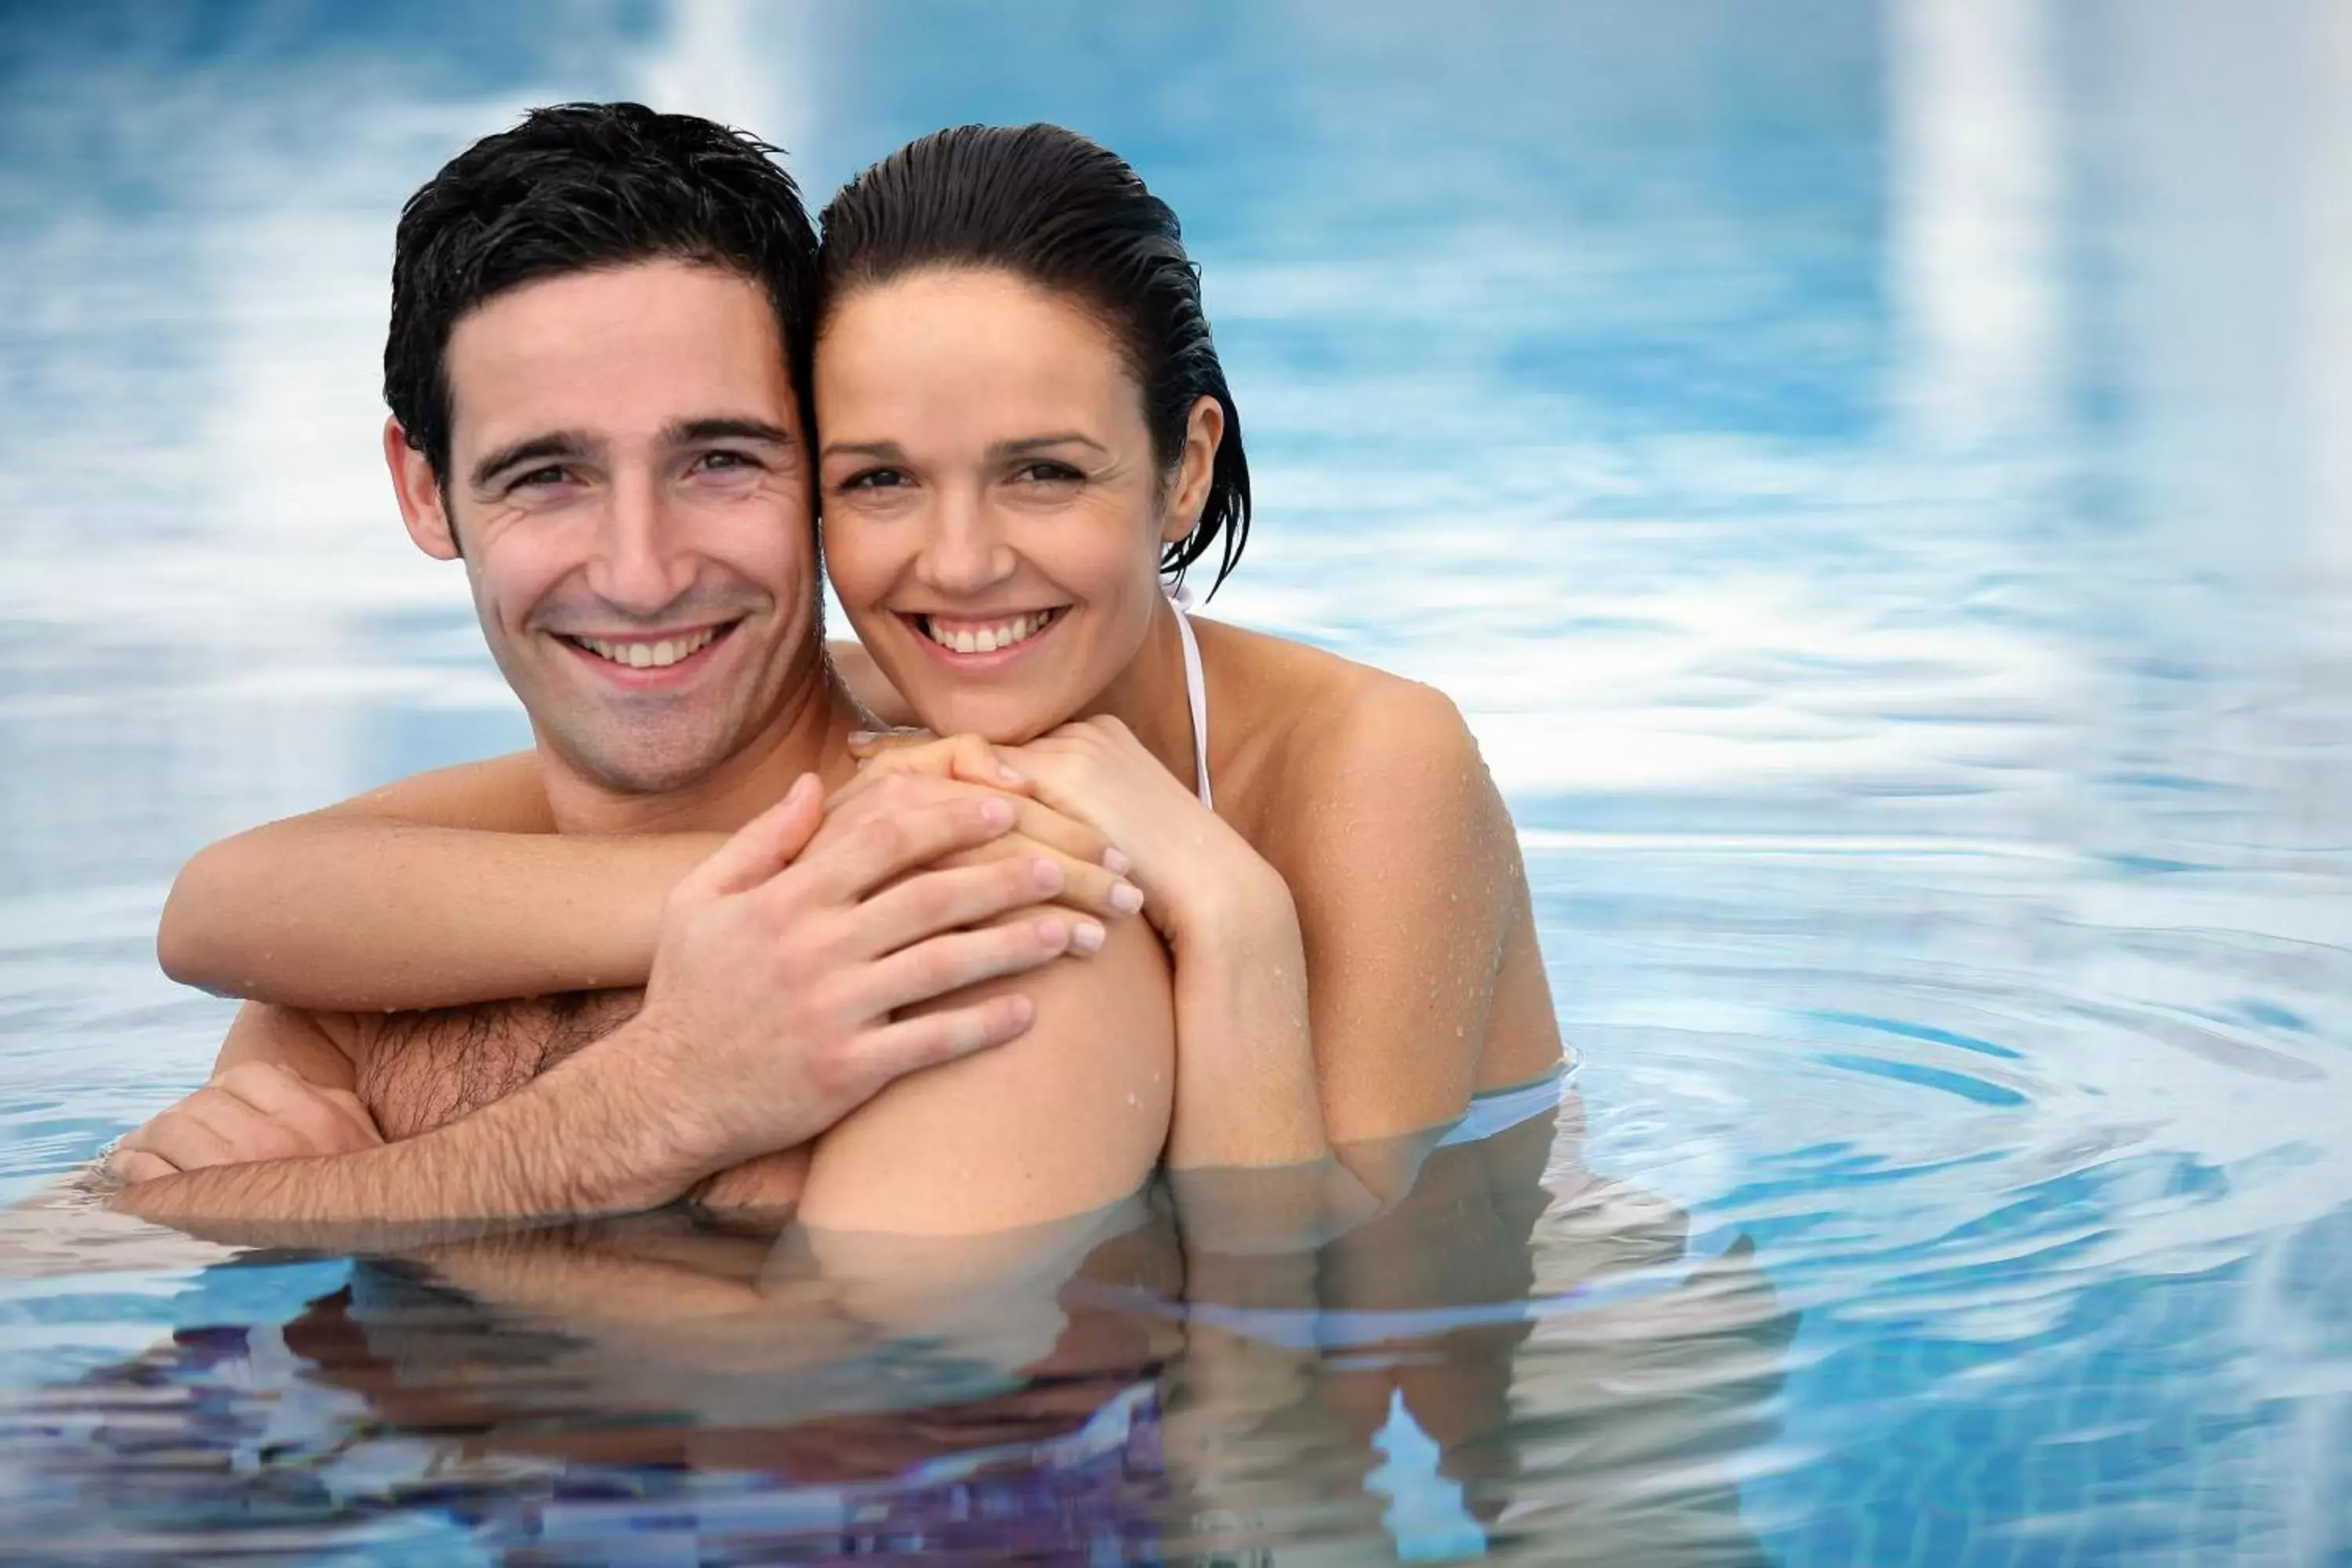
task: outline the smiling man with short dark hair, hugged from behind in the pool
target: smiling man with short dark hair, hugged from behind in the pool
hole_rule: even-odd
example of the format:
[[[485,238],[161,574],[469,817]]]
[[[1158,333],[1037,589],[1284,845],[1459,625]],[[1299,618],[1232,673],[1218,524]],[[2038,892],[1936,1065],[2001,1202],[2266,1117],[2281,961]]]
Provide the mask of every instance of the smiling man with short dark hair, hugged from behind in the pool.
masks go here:
[[[830,1225],[985,1229],[1131,1192],[1174,1025],[1155,938],[1094,917],[1131,905],[1103,846],[936,778],[826,804],[861,715],[818,639],[795,376],[814,235],[767,148],[630,103],[539,110],[419,190],[393,273],[402,520],[466,562],[536,743],[513,764],[536,771],[536,820],[482,825],[734,837],[670,896],[633,1018],[247,1006],[214,1084],[118,1150],[118,1206],[207,1229],[496,1218],[647,1208],[727,1173],[734,1201],[830,1194]],[[496,898],[496,865],[480,882]],[[202,971],[169,922],[162,945]]]

